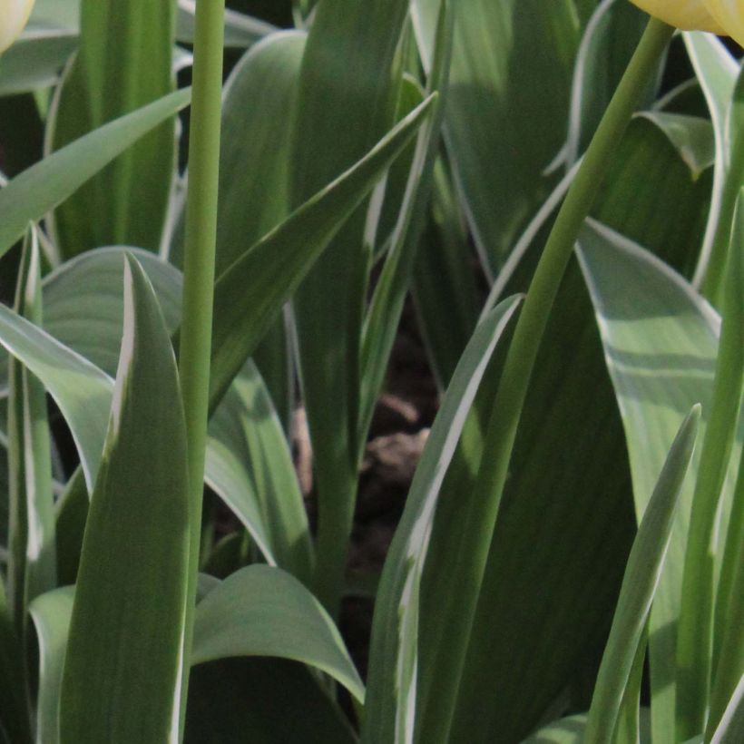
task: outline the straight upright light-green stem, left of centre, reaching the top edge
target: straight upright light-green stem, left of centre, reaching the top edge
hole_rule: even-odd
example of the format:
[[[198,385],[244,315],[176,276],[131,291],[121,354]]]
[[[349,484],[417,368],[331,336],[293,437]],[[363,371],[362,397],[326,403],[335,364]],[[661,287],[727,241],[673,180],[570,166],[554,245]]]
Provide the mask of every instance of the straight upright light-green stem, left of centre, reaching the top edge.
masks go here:
[[[181,739],[189,686],[191,639],[201,544],[201,500],[210,390],[214,258],[220,171],[224,0],[198,0],[194,36],[189,191],[183,261],[179,374],[189,449],[191,522],[189,593],[183,650]]]

